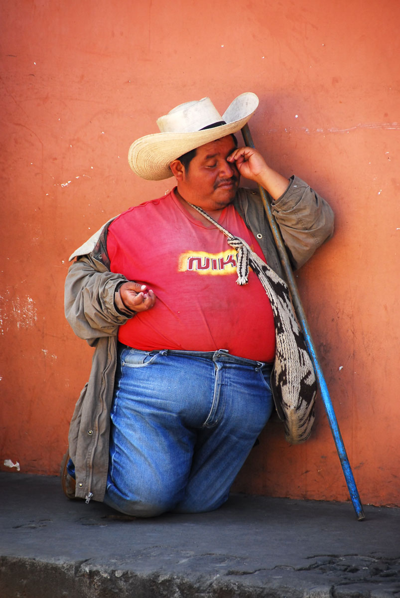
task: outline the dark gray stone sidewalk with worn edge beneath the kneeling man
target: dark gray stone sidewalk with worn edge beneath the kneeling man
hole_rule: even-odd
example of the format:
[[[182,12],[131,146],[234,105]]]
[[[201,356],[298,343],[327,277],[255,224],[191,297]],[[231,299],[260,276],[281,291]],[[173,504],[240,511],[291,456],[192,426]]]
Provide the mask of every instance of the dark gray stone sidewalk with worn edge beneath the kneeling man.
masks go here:
[[[0,474],[1,598],[400,597],[400,509],[232,496],[132,520]]]

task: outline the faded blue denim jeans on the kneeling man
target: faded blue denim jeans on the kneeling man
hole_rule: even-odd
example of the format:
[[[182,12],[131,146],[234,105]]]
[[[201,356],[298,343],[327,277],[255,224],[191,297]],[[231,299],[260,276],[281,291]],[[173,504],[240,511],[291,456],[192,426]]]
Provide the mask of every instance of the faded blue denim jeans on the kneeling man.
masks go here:
[[[226,350],[121,345],[104,502],[139,517],[218,508],[270,417],[270,373]]]

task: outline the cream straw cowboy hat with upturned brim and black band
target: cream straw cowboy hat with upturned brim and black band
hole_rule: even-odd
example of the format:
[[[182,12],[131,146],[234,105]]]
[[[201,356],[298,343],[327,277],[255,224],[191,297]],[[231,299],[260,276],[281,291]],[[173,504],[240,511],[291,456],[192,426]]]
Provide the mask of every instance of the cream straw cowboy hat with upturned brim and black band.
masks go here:
[[[200,145],[236,133],[257,106],[258,97],[251,92],[237,96],[222,117],[209,97],[180,104],[158,118],[160,133],[133,142],[129,148],[129,166],[143,179],[167,179],[172,176],[169,165],[173,160]]]

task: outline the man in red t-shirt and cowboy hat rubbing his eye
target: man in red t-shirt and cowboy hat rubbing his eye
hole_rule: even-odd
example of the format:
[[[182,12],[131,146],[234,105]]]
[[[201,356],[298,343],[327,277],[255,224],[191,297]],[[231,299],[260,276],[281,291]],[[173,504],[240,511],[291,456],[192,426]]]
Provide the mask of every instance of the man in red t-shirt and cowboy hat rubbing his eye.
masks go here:
[[[270,417],[280,325],[261,270],[283,274],[240,175],[270,194],[295,268],[331,236],[333,216],[306,183],[237,147],[257,105],[241,94],[221,117],[203,98],[158,119],[129,163],[146,179],[173,175],[175,190],[112,219],[70,258],[66,317],[96,350],[62,464],[69,498],[139,517],[218,508]]]

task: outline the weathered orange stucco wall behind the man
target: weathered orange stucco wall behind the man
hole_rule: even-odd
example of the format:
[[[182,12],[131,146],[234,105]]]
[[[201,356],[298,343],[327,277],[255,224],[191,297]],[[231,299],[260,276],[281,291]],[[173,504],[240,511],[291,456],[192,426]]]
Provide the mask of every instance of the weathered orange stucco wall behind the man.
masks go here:
[[[254,91],[255,144],[335,210],[298,283],[362,502],[400,504],[399,6],[1,3],[1,469],[56,474],[66,448],[91,357],[63,316],[69,254],[173,185],[133,175],[130,143],[178,103]],[[320,402],[304,445],[267,426],[236,489],[347,499]]]

